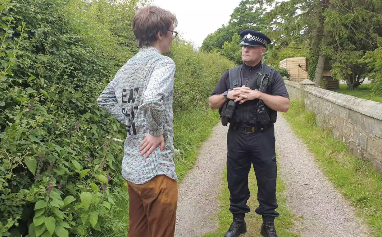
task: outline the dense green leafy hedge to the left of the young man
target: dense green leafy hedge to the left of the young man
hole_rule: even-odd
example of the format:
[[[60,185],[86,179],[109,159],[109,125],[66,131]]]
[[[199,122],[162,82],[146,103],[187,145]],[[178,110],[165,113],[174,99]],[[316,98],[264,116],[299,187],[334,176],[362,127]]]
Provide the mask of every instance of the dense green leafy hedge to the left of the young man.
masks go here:
[[[117,66],[76,34],[65,4],[0,3],[1,236],[94,236],[126,196],[125,131],[96,104]]]

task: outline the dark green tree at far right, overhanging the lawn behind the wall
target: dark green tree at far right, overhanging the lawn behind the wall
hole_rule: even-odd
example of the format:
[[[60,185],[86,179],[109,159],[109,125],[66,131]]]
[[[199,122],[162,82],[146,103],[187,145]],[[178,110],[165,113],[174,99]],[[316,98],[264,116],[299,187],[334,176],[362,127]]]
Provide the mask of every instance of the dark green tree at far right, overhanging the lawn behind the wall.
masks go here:
[[[363,61],[367,51],[374,51],[382,36],[382,3],[373,0],[332,0],[334,8],[325,12],[330,32],[327,48],[334,64],[333,77],[346,80],[356,90],[370,68]]]

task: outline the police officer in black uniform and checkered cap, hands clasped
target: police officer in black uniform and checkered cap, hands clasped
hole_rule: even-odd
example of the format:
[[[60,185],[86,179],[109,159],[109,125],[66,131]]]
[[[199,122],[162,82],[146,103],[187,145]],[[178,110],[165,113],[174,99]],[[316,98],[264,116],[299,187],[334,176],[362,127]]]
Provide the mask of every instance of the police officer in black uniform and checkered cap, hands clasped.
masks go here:
[[[282,76],[262,63],[270,39],[260,32],[244,30],[241,59],[243,64],[227,70],[209,98],[211,109],[219,109],[227,133],[227,178],[233,222],[225,237],[245,233],[244,216],[250,193],[248,173],[253,164],[257,179],[256,213],[262,215],[260,233],[277,237],[274,219],[279,214],[276,201],[276,153],[274,123],[277,111],[287,112],[289,95]]]

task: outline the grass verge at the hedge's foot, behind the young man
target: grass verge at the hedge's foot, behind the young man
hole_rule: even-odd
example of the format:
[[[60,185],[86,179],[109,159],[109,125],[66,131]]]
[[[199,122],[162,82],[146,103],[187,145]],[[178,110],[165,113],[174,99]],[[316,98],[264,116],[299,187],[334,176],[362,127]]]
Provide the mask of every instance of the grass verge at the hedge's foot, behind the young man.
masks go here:
[[[181,181],[187,171],[196,163],[198,148],[212,133],[212,128],[219,122],[216,111],[197,108],[174,115],[174,146],[180,155],[175,157],[175,170]],[[122,177],[121,177],[122,179]],[[116,208],[110,211],[110,229],[98,237],[126,237],[129,225],[128,194],[120,197]]]

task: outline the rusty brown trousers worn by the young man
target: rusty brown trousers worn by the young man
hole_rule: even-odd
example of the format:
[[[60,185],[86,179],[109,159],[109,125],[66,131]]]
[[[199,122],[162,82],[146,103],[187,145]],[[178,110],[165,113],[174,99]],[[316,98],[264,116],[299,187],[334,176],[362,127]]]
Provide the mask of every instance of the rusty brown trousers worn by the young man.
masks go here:
[[[126,181],[129,192],[128,237],[174,237],[178,186],[157,175],[145,184]]]

